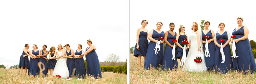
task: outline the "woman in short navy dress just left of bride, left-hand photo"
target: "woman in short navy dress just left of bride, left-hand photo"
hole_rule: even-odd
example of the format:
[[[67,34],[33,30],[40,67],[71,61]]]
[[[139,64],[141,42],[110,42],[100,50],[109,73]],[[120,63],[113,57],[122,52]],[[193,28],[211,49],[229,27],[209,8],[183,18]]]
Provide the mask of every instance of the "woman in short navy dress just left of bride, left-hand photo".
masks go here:
[[[50,74],[52,75],[52,72],[54,70],[54,67],[57,63],[57,60],[56,60],[56,55],[57,55],[57,52],[56,52],[56,48],[54,46],[52,46],[50,48],[50,51],[49,51],[49,60],[48,60],[48,68],[50,68]]]

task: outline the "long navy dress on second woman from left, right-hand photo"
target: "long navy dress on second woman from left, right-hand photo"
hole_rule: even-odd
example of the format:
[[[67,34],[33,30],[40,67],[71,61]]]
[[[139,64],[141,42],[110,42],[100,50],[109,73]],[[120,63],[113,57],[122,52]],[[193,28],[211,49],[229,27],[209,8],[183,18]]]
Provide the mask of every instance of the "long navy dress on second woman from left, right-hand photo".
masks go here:
[[[153,30],[152,38],[159,40],[159,37],[164,38],[164,32],[158,33],[155,30]],[[145,58],[145,64],[144,68],[148,69],[149,67],[154,67],[158,69],[158,67],[162,67],[163,58],[164,58],[164,44],[160,44],[160,51],[157,51],[158,53],[155,54],[155,47],[156,43],[153,41],[150,41],[148,44],[148,50]]]

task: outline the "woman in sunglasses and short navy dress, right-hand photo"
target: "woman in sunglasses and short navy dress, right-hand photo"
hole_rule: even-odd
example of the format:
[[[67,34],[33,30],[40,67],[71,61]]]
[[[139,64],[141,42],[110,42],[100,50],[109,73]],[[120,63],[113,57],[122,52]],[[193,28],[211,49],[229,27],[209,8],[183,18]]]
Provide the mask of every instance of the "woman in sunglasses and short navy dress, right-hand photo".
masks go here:
[[[177,59],[182,59],[182,54],[183,54],[183,48],[184,48],[184,45],[181,44],[181,42],[186,39],[188,40],[188,35],[185,34],[185,27],[184,25],[180,25],[180,28],[179,28],[179,34],[176,36],[176,40],[177,42],[175,43],[178,47],[176,49],[176,58]],[[190,45],[190,44],[188,44]],[[188,45],[186,45],[186,55],[188,55]],[[181,62],[181,61],[180,61]],[[182,66],[180,66],[180,69],[182,69]]]

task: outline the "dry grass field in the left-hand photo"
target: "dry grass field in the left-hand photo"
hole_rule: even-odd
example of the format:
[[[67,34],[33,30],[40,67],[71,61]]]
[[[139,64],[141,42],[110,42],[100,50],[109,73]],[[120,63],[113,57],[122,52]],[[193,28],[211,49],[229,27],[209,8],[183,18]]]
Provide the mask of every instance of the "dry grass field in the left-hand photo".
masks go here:
[[[48,73],[50,73],[50,71],[48,71]],[[102,79],[99,80],[93,80],[87,77],[82,81],[77,81],[77,78],[72,78],[72,80],[66,81],[65,79],[59,79],[52,76],[43,78],[33,76],[22,77],[20,75],[20,69],[0,68],[0,84],[126,84],[126,79],[126,74],[104,72],[102,73]]]

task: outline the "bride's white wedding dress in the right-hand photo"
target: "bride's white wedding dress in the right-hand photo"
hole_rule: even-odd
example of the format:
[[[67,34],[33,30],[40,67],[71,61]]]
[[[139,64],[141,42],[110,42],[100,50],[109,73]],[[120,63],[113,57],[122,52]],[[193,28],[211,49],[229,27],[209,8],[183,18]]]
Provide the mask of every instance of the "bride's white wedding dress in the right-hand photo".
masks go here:
[[[194,59],[196,59],[196,56],[198,55],[198,43],[197,43],[197,34],[196,33],[191,33],[189,34],[189,39],[190,39],[190,49],[188,51],[187,55],[187,60],[183,65],[182,71],[189,71],[189,72],[206,72],[206,66],[205,66],[205,61],[204,61],[204,52],[203,52],[203,45],[201,43],[201,53],[202,56],[202,62],[201,63],[196,63],[194,62]],[[202,37],[202,36],[201,36]],[[201,39],[201,38],[200,38]],[[202,40],[202,39],[201,39]],[[213,59],[214,60],[214,59]]]

